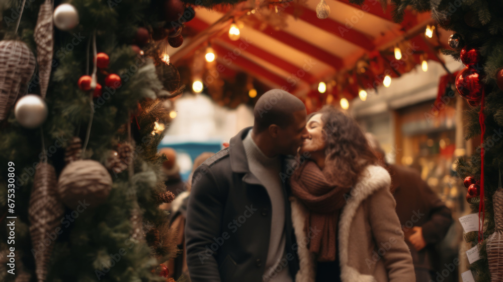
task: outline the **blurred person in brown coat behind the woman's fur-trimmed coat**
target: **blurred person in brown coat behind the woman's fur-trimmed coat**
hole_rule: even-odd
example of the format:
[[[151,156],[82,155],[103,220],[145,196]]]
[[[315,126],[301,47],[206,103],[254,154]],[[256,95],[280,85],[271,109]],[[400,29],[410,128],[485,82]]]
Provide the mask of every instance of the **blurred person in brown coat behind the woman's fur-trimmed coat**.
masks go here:
[[[391,193],[396,200],[396,214],[410,248],[417,282],[436,281],[439,255],[435,244],[444,239],[451,226],[451,210],[430,189],[415,169],[388,164],[384,150],[371,133],[366,133],[369,144],[379,162],[391,175]],[[435,269],[435,267],[440,269]],[[444,277],[442,277],[444,278]],[[442,279],[444,280],[444,279]]]

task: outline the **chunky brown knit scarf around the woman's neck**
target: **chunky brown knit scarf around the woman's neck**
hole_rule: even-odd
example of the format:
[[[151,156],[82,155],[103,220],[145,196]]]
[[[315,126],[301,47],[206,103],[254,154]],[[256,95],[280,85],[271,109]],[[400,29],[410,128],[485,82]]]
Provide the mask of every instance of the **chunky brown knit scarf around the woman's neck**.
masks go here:
[[[291,178],[292,193],[307,206],[306,234],[311,232],[309,251],[317,254],[318,261],[336,260],[336,239],[339,212],[346,204],[345,193],[351,187],[328,183],[325,175],[313,161],[302,164]],[[312,228],[312,230],[311,230]]]

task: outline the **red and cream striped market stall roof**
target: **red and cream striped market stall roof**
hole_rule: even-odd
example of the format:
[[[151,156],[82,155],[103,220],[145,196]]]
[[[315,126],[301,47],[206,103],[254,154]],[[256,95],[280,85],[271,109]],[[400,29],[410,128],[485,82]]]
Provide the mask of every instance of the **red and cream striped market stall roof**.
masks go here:
[[[196,7],[196,17],[185,24],[195,35],[186,38],[181,48],[170,50],[171,61],[176,64],[187,59],[210,42],[217,62],[224,68],[219,72],[227,68],[241,70],[271,88],[286,87],[303,96],[316,89],[319,82],[355,69],[357,62],[368,59],[369,54],[382,55],[414,37],[421,43],[417,49],[429,54],[429,59],[438,58],[437,50],[421,38],[426,26],[434,23],[429,13],[406,11],[403,21],[397,24],[390,15],[391,7],[383,12],[376,0],[366,1],[361,7],[348,0],[328,0],[331,12],[321,20],[316,17],[318,3],[274,2],[262,9],[250,2],[212,10]],[[237,41],[228,36],[234,22],[240,28]],[[416,51],[414,47],[412,51]],[[393,75],[406,71],[399,69]],[[357,80],[361,85],[360,78]],[[353,92],[348,95],[356,96]]]

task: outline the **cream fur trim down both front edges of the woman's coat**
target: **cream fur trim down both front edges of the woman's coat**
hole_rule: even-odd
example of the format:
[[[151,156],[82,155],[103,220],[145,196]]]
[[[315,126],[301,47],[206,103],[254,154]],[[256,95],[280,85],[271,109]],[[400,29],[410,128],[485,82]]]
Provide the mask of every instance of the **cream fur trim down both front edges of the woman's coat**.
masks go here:
[[[339,259],[341,262],[341,278],[343,282],[374,282],[371,275],[364,275],[355,268],[348,265],[348,244],[349,233],[353,218],[360,204],[382,187],[391,184],[389,173],[380,166],[368,166],[365,168],[358,183],[351,190],[347,197],[347,204],[343,208],[339,219]],[[306,217],[306,207],[295,197],[290,197],[292,206],[292,223],[295,229],[295,236],[299,244],[298,255],[300,270],[295,276],[296,282],[313,282],[315,280],[314,255],[309,252],[307,246],[302,243],[306,237],[304,234],[304,224]]]

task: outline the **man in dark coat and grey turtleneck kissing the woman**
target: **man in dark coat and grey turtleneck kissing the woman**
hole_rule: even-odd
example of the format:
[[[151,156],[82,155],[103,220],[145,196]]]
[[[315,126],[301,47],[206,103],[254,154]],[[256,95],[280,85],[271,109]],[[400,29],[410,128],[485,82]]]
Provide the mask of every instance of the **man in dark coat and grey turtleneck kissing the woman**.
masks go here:
[[[257,101],[253,128],[194,172],[185,238],[192,282],[292,282],[299,268],[285,156],[306,137],[306,109],[273,89]]]

